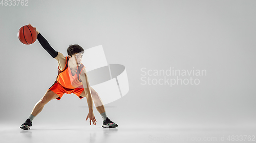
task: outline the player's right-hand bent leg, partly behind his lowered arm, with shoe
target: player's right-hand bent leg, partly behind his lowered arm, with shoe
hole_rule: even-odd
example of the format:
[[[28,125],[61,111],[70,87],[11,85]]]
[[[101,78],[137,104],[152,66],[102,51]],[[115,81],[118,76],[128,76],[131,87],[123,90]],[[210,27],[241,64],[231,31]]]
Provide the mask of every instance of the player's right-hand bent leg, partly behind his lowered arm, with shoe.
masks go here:
[[[108,117],[106,117],[105,108],[104,108],[102,100],[99,97],[99,94],[92,87],[90,87],[90,88],[91,88],[93,102],[94,102],[94,104],[96,106],[96,109],[100,113],[100,115],[102,117],[102,120],[103,120],[102,127],[104,127],[104,128],[116,128],[118,125],[115,124],[114,122],[112,122]],[[86,94],[83,91],[80,96],[87,97],[88,94]]]

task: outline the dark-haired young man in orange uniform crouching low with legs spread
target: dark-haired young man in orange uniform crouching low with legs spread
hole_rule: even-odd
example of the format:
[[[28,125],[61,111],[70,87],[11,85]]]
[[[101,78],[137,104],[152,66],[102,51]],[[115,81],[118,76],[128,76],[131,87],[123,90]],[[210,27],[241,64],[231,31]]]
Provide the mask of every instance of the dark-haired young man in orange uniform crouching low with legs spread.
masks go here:
[[[29,25],[32,26],[31,24]],[[34,29],[36,30],[36,27],[34,27]],[[35,104],[29,118],[20,126],[20,128],[24,130],[30,129],[33,119],[38,115],[42,108],[44,108],[44,106],[53,99],[60,100],[62,95],[65,93],[73,93],[80,99],[83,97],[87,98],[89,113],[86,121],[89,118],[90,125],[91,122],[93,125],[96,125],[97,122],[93,113],[94,101],[96,109],[103,119],[102,127],[116,128],[118,125],[106,117],[105,108],[98,93],[90,87],[86,67],[81,63],[82,54],[84,52],[83,48],[79,45],[70,45],[67,49],[68,56],[65,57],[62,53],[55,51],[37,30],[36,32],[37,40],[41,46],[52,56],[52,58],[57,60],[59,73],[57,75],[57,80],[54,82],[52,87],[49,88],[44,97]]]

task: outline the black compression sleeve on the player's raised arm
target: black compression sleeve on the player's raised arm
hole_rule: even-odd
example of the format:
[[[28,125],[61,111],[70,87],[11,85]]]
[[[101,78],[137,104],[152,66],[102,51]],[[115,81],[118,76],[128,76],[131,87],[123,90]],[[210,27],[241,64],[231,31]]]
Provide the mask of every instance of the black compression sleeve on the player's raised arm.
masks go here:
[[[58,55],[58,52],[55,51],[51,45],[47,42],[47,40],[42,37],[42,35],[39,33],[37,35],[37,40],[39,41],[39,43],[42,45],[42,47],[48,52],[50,53],[50,55],[52,56],[52,58],[55,58]]]

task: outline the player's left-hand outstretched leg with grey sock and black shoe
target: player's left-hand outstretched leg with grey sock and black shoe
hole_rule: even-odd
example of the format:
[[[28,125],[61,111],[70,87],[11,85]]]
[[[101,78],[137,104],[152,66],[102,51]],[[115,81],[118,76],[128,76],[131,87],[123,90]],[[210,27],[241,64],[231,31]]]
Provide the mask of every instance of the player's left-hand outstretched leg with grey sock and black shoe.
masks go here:
[[[24,130],[30,129],[32,126],[33,119],[38,115],[39,112],[44,108],[44,106],[51,100],[58,98],[59,96],[53,91],[48,90],[44,97],[42,97],[34,106],[29,118],[23,123],[20,128]]]

